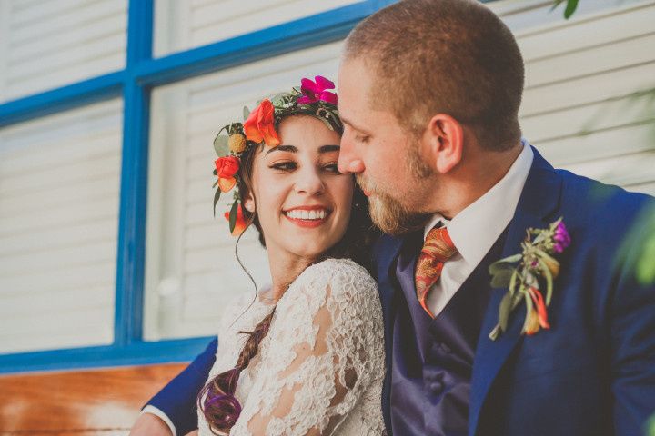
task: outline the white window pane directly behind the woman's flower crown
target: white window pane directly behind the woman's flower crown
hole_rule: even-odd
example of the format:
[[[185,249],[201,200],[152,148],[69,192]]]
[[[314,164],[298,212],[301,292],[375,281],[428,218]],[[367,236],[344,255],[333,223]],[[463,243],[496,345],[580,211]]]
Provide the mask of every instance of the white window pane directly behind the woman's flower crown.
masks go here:
[[[147,339],[217,333],[218,315],[237,294],[254,295],[235,260],[236,238],[223,212],[213,217],[211,189],[218,129],[241,119],[263,95],[302,77],[336,76],[340,43],[285,54],[156,89],[152,99],[146,248]],[[260,287],[266,254],[249,233],[239,253]]]

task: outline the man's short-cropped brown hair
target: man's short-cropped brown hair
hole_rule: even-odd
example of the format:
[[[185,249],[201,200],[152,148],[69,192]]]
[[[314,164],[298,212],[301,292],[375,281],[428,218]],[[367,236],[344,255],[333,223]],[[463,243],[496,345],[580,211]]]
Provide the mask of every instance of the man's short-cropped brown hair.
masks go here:
[[[507,25],[476,0],[389,5],[348,35],[344,58],[372,67],[371,103],[412,134],[432,115],[449,114],[488,149],[519,142],[523,59]]]

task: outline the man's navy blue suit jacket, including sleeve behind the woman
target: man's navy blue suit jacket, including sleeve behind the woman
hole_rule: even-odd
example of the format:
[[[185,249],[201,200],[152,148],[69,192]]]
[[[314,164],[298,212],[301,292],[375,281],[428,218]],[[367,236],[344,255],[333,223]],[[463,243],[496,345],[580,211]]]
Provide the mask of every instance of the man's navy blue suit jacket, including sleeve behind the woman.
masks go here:
[[[469,435],[642,434],[655,411],[655,283],[638,282],[635,265],[643,254],[640,231],[655,213],[653,199],[555,170],[534,152],[503,257],[520,252],[526,229],[560,216],[572,243],[559,255],[549,330],[521,335],[521,305],[508,331],[489,340],[507,290],[491,291],[473,365]],[[388,363],[401,244],[402,238],[383,236],[374,251]],[[178,434],[196,428],[194,401],[215,352],[210,344],[192,371],[150,401],[176,418]],[[389,381],[382,398],[388,429]]]

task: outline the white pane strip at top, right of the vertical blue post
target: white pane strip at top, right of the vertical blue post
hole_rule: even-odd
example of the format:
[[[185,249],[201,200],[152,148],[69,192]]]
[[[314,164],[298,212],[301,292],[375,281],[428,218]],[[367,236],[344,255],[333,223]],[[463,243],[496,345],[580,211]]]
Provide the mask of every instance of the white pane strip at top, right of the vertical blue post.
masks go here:
[[[163,56],[245,35],[361,0],[156,0],[155,49]]]

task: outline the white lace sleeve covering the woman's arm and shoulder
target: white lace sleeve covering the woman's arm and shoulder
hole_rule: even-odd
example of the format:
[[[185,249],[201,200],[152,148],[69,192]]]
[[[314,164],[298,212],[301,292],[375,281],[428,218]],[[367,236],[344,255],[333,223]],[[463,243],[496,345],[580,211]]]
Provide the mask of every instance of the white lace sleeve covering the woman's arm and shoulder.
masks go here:
[[[376,284],[357,263],[328,259],[307,268],[277,304],[230,434],[332,434],[380,371],[372,356],[382,342],[380,320]]]

